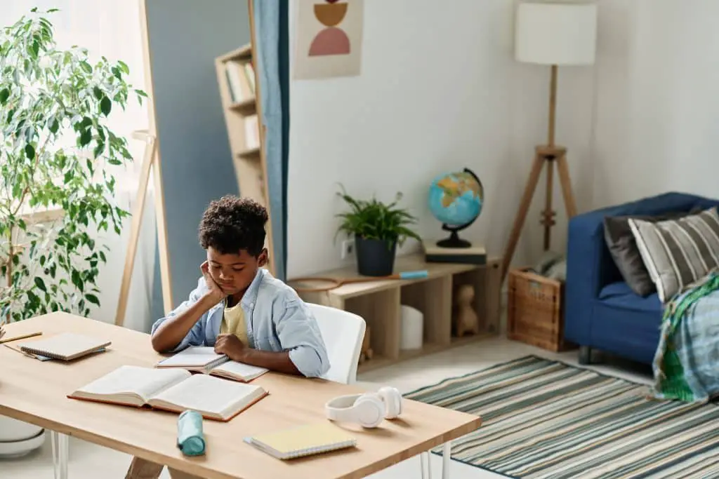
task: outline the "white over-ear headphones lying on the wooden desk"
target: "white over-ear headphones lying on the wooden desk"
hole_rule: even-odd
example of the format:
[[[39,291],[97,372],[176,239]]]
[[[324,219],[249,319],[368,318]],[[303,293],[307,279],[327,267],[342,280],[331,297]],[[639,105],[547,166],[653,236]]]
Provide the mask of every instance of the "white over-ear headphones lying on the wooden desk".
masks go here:
[[[376,393],[350,394],[331,399],[324,405],[327,419],[355,422],[362,427],[380,425],[383,419],[395,419],[402,414],[402,394],[385,386]]]

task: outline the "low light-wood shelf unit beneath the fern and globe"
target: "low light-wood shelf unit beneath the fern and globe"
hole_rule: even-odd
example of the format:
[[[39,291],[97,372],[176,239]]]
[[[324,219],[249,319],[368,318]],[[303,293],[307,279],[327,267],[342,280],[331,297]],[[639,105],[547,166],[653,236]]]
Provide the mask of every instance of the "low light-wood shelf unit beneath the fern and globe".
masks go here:
[[[423,255],[399,257],[395,272],[426,269],[426,279],[379,280],[345,284],[326,292],[300,293],[303,300],[365,318],[370,331],[372,359],[360,363],[357,371],[383,368],[441,350],[466,345],[499,332],[501,259],[487,259],[485,265],[426,263]],[[316,274],[320,277],[356,277],[354,266]],[[290,286],[292,280],[289,281]],[[475,311],[480,320],[480,334],[456,338],[453,330],[453,292],[462,284],[475,287]],[[400,350],[400,305],[416,307],[423,312],[423,345],[416,350]]]

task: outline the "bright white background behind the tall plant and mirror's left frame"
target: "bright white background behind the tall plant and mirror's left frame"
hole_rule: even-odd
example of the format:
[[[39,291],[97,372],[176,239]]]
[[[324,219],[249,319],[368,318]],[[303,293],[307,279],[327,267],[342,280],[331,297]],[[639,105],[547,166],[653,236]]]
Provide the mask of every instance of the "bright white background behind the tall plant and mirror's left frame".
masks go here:
[[[0,11],[0,26],[10,25],[32,7],[41,11],[58,8],[60,11],[50,14],[49,19],[55,26],[55,39],[58,47],[71,45],[86,47],[92,57],[101,55],[109,60],[123,60],[130,69],[129,82],[137,88],[145,88],[145,75],[142,65],[142,42],[139,33],[139,2],[137,1],[95,1],[95,0],[15,0],[3,4]],[[119,136],[129,139],[129,150],[135,163],[127,172],[117,171],[118,191],[115,197],[118,205],[132,208],[137,192],[137,177],[144,152],[141,141],[130,139],[132,131],[147,128],[147,109],[129,101],[126,111],[116,108],[110,116],[109,126]],[[134,276],[130,290],[125,325],[145,330],[150,322],[150,294],[155,268],[155,218],[151,196],[146,203]],[[101,233],[101,241],[106,241],[111,253],[108,263],[101,265],[98,285],[101,289],[99,299],[101,307],[93,310],[91,317],[97,320],[113,322],[119,299],[120,281],[124,256],[129,241],[129,218],[121,236],[114,233]]]

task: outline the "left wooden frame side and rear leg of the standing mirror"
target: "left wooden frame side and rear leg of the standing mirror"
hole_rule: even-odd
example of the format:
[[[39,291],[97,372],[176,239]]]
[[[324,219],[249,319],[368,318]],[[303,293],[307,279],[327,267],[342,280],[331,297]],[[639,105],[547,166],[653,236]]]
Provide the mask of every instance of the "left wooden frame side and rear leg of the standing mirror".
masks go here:
[[[142,214],[145,212],[145,199],[147,197],[147,185],[150,182],[150,173],[155,180],[155,215],[157,220],[157,246],[160,251],[160,282],[162,282],[162,305],[165,314],[173,308],[172,285],[170,284],[170,256],[168,253],[168,231],[165,223],[165,195],[162,190],[162,168],[160,167],[160,147],[157,145],[157,134],[155,129],[155,105],[152,96],[152,68],[150,68],[150,44],[147,36],[147,9],[146,0],[139,0],[140,30],[142,32],[143,60],[145,61],[145,84],[147,95],[150,97],[147,103],[149,116],[149,127],[144,131],[135,131],[132,134],[134,139],[145,141],[145,155],[142,159],[142,170],[137,187],[134,208],[132,210],[132,225],[130,226],[130,240],[125,256],[125,266],[122,272],[122,283],[120,284],[120,297],[117,303],[117,315],[115,325],[124,325],[125,313],[127,312],[127,300],[129,299],[130,282],[132,281],[132,270],[134,259],[137,254],[137,243],[139,241],[140,227],[142,226]]]

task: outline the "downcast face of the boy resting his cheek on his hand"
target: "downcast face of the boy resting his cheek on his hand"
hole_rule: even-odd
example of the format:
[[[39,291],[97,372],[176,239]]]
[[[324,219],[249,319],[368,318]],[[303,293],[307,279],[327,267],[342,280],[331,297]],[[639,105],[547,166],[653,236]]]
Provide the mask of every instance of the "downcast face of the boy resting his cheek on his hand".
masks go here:
[[[210,247],[207,248],[207,262],[210,276],[222,292],[229,296],[249,287],[257,269],[267,263],[267,249],[262,249],[259,256],[252,256],[245,249],[239,250],[237,254],[220,254]]]

